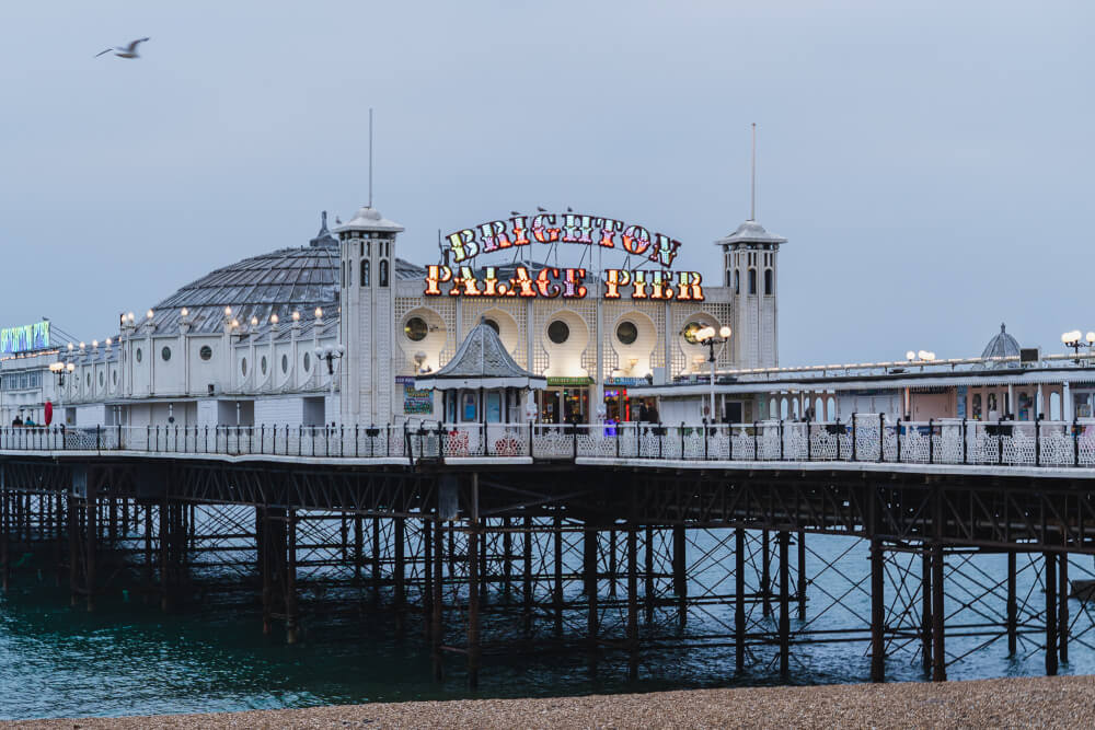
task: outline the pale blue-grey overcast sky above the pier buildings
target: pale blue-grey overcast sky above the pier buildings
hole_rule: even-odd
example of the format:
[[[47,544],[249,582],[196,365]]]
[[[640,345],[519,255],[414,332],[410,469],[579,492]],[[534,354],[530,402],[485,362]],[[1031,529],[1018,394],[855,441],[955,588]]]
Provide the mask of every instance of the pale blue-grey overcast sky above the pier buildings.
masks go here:
[[[0,323],[114,334],[368,198],[397,255],[510,210],[780,253],[781,364],[1095,329],[1091,2],[0,3]],[[149,36],[142,57],[100,50]],[[1087,274],[1085,274],[1085,271]]]

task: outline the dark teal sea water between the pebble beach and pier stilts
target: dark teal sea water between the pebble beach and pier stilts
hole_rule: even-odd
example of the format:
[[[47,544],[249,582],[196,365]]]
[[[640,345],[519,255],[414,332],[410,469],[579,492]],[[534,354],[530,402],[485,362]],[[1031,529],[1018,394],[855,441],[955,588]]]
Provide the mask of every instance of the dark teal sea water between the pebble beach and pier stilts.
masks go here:
[[[811,626],[835,628],[868,617],[865,545],[837,537],[810,537],[807,544],[810,572],[817,575],[810,589]],[[690,557],[700,560],[701,546],[702,541],[690,551]],[[822,570],[825,563],[834,567]],[[996,584],[1004,578],[1004,558],[986,556],[959,565],[963,563],[960,557],[950,560],[952,570],[959,572],[948,587],[948,613],[953,614],[948,621],[979,623],[1002,605],[1002,589]],[[714,576],[722,568],[710,563],[703,569]],[[897,581],[903,569],[899,561],[888,570],[892,606],[906,602],[904,589]],[[1038,561],[1021,561],[1021,599],[1028,598],[1030,604],[1023,615],[1031,624],[1039,621],[1036,613],[1044,606],[1038,569]],[[1073,577],[1084,573],[1091,573],[1091,560],[1074,558]],[[724,590],[729,584],[731,581]],[[988,598],[971,598],[979,594]],[[359,609],[308,615],[304,639],[288,646],[280,630],[263,636],[258,607],[250,591],[218,594],[204,605],[163,614],[158,606],[142,605],[136,599],[126,601],[119,589],[104,595],[96,612],[89,614],[82,606],[70,607],[67,590],[55,588],[50,578],[39,581],[33,568],[24,570],[13,589],[0,596],[0,718],[643,692],[781,681],[774,649],[769,647],[758,649],[752,669],[740,675],[734,671],[733,648],[648,651],[636,682],[627,681],[622,654],[604,654],[595,664],[580,650],[562,656],[515,651],[487,659],[480,690],[469,693],[457,658],[447,660],[443,681],[433,680],[417,619],[413,618],[405,637],[399,638],[390,614],[369,609],[368,591],[359,598]],[[911,593],[907,598],[914,600]],[[969,605],[959,609],[964,603]],[[713,606],[700,612],[693,626],[716,630],[721,623],[731,625],[727,611]],[[1071,602],[1071,611],[1077,638],[1071,645],[1071,661],[1062,665],[1061,673],[1095,672],[1091,617],[1076,601]],[[899,621],[897,613],[895,623]],[[793,630],[798,625],[793,621]],[[1006,656],[1003,639],[980,647],[986,640],[948,640],[953,659],[969,652],[952,665],[952,679],[1044,672],[1037,628],[1024,637],[1017,658]],[[892,646],[887,660],[889,679],[924,679],[914,649],[914,642]],[[789,681],[865,681],[869,672],[866,650],[864,644],[794,647]]]

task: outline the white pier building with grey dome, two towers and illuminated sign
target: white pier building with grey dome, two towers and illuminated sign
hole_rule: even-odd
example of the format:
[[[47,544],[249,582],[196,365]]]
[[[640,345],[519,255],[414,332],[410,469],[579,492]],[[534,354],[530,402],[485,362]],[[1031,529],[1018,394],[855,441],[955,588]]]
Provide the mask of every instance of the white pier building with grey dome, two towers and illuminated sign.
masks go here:
[[[512,212],[456,230],[435,262],[362,207],[306,245],[218,268],[76,340],[0,333],[0,418],[107,426],[418,421],[753,422],[1072,419],[1092,415],[1091,343],[980,357],[786,368],[779,255],[756,220],[713,236],[704,270],[638,223]],[[561,263],[563,262],[563,263]],[[1086,348],[1083,339],[1086,339]],[[1083,350],[1083,351],[1082,351]]]

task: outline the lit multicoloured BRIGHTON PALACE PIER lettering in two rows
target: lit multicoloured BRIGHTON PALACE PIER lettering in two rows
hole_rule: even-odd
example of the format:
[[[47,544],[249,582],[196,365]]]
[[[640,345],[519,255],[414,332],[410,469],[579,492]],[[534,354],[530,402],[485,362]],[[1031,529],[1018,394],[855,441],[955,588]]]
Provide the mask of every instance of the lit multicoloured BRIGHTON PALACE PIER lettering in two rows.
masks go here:
[[[602,270],[602,296],[606,299],[678,299],[703,301],[702,277],[698,271],[673,271],[671,266],[680,250],[680,241],[664,233],[650,233],[642,225],[629,225],[622,220],[583,213],[548,213],[514,216],[466,228],[446,236],[446,264],[426,267],[428,297],[518,297],[521,299],[585,299],[587,270],[553,268],[529,270],[512,267],[512,276],[500,279],[498,267],[473,266],[480,254],[516,253],[519,246],[561,243],[588,246],[589,251],[622,252],[639,256],[657,268],[650,270],[607,268]]]

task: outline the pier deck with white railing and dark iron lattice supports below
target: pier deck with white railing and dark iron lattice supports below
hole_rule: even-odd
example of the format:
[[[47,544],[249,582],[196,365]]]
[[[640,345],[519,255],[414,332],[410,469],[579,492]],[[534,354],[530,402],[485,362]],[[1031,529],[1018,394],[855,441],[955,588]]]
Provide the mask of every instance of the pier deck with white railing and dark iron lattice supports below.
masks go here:
[[[366,587],[473,687],[494,653],[619,653],[635,676],[718,646],[727,672],[786,675],[810,644],[942,681],[955,637],[1056,674],[1091,638],[1070,586],[1092,576],[1093,485],[1084,421],[5,428],[0,572],[36,556],[89,611],[251,586],[290,642]],[[868,565],[815,535],[865,541]],[[832,571],[848,592],[818,588]]]

